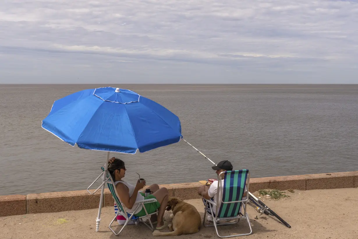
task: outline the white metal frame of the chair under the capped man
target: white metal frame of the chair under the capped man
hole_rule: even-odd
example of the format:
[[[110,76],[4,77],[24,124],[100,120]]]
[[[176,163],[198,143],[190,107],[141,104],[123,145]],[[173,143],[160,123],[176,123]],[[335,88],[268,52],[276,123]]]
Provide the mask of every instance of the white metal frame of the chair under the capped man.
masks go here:
[[[246,178],[246,200],[241,200],[241,201],[230,201],[230,202],[224,202],[224,200],[222,199],[222,196],[221,195],[221,190],[222,190],[222,175],[227,172],[227,171],[224,171],[224,172],[221,172],[219,175],[218,175],[218,195],[217,195],[217,201],[214,202],[212,200],[206,200],[207,204],[209,203],[209,207],[210,207],[210,210],[211,210],[211,216],[213,218],[213,224],[205,224],[205,220],[206,220],[206,214],[207,214],[207,204],[205,204],[205,212],[204,212],[204,219],[203,219],[203,224],[204,226],[214,226],[215,230],[216,230],[216,234],[219,236],[219,238],[229,238],[229,237],[234,237],[234,236],[247,236],[247,235],[251,235],[252,234],[252,228],[251,228],[251,224],[250,224],[250,219],[248,217],[248,214],[246,212],[246,209],[247,209],[247,202],[249,200],[249,195],[248,195],[248,190],[249,190],[249,184],[250,184],[250,171],[248,172],[248,175],[247,175],[247,178]],[[239,209],[239,213],[237,216],[234,216],[234,217],[231,217],[231,218],[219,218],[217,215],[218,215],[218,204],[219,204],[219,199],[222,199],[222,202],[221,203],[224,203],[224,204],[231,204],[231,203],[236,203],[236,202],[240,202],[240,207],[242,207],[242,203],[244,203],[245,205],[245,210],[244,210],[244,214],[241,214],[240,212],[240,209]],[[216,212],[215,212],[215,216],[213,214],[213,208],[212,206],[216,206]],[[249,233],[243,233],[243,234],[236,234],[236,235],[228,235],[228,236],[221,236],[219,235],[219,232],[218,232],[218,226],[221,226],[221,225],[230,225],[230,224],[237,224],[240,219],[246,219],[247,220],[247,223],[248,223],[248,226],[250,227],[250,232]],[[217,222],[218,221],[221,221],[221,220],[235,220],[234,222],[230,222],[230,223],[220,223],[218,224]],[[237,220],[237,221],[236,221]]]

